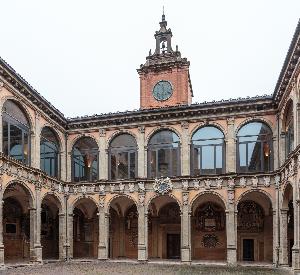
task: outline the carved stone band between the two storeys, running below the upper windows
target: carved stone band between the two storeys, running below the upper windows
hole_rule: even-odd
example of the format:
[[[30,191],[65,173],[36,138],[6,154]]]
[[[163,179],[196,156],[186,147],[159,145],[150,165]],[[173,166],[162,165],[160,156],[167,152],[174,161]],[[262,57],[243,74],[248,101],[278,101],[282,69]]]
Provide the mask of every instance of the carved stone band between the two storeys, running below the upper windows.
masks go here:
[[[214,190],[214,189],[235,189],[235,188],[260,188],[260,187],[279,187],[284,182],[290,180],[300,169],[300,145],[288,157],[286,162],[277,170],[269,173],[251,174],[224,174],[214,176],[198,177],[176,177],[161,179],[134,179],[107,181],[99,180],[96,182],[71,183],[58,180],[48,176],[45,172],[29,167],[21,162],[0,153],[0,175],[4,173],[14,176],[34,185],[42,186],[51,191],[63,194],[102,194],[107,193],[133,193],[145,191],[157,191],[156,186],[164,183],[167,188],[172,190]],[[168,187],[169,186],[169,187]],[[156,190],[157,189],[157,190]],[[170,191],[170,190],[169,190]]]

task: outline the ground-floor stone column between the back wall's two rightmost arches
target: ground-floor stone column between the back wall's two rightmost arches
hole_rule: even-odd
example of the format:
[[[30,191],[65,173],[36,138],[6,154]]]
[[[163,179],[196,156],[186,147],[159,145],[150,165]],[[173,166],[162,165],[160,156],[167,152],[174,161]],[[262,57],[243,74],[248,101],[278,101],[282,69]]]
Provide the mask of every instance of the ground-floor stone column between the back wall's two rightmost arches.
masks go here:
[[[227,264],[237,264],[237,212],[235,211],[234,189],[227,190],[226,212]]]

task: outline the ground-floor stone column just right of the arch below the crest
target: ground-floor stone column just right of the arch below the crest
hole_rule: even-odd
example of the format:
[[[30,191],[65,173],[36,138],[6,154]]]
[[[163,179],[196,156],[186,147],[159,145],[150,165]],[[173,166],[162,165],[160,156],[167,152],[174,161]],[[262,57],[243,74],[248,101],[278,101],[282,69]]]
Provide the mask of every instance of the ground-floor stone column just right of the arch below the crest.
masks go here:
[[[189,210],[189,192],[182,192],[181,213],[181,261],[191,262],[191,213]]]

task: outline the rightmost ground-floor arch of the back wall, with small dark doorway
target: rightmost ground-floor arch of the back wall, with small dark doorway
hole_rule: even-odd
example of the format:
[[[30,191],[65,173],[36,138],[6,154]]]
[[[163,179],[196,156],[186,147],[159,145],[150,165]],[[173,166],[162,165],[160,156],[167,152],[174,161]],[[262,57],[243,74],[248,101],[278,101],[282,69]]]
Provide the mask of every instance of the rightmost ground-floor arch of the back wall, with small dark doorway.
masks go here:
[[[274,200],[263,190],[248,190],[236,202],[238,261],[273,262]]]

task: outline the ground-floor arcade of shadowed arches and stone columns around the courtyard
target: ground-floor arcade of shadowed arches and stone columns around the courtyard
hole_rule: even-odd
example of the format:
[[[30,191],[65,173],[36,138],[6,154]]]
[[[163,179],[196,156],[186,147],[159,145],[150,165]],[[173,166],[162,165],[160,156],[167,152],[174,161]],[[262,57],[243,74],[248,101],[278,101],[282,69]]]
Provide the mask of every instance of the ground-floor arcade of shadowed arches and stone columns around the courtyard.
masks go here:
[[[0,208],[2,262],[170,259],[288,266],[295,261],[298,206],[291,184],[283,190],[280,211],[262,190],[247,190],[231,203],[215,191],[193,197],[181,192],[181,199],[178,193],[70,197],[38,188],[33,193],[12,182]]]

